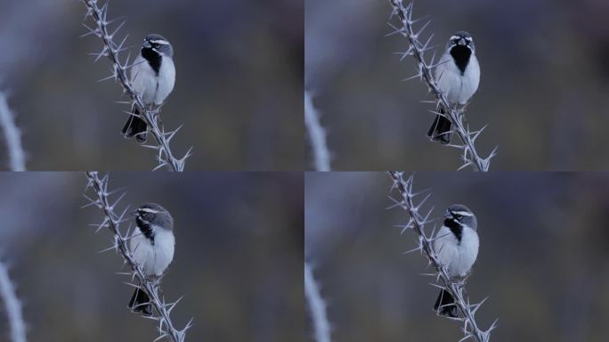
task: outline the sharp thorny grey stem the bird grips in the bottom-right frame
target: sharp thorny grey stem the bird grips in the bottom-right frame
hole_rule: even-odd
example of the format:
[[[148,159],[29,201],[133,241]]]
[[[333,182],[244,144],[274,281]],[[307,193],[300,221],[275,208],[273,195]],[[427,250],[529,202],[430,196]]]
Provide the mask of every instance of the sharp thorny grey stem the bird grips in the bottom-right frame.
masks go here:
[[[478,328],[478,324],[475,322],[475,312],[480,308],[483,304],[484,300],[478,304],[470,304],[469,299],[464,297],[463,289],[465,289],[465,281],[457,281],[451,279],[446,268],[440,263],[436,251],[434,250],[433,243],[433,235],[426,235],[425,225],[428,224],[430,220],[430,216],[433,208],[429,210],[425,215],[421,214],[420,209],[423,205],[425,199],[429,198],[429,194],[427,194],[426,198],[423,199],[418,205],[414,204],[414,197],[417,195],[412,191],[412,183],[413,177],[410,175],[408,179],[404,180],[402,172],[392,171],[389,173],[394,181],[391,190],[400,192],[401,199],[393,199],[395,204],[394,207],[401,207],[410,216],[408,224],[403,226],[403,231],[412,229],[418,235],[418,245],[417,248],[412,249],[412,251],[421,251],[425,254],[427,259],[429,260],[429,264],[434,266],[435,274],[434,276],[438,281],[442,283],[442,285],[435,285],[440,289],[446,289],[451,293],[451,296],[455,299],[455,305],[459,308],[459,317],[457,320],[463,322],[463,332],[465,337],[461,339],[464,341],[468,338],[474,338],[477,342],[488,342],[491,338],[491,330],[494,330],[497,327],[497,320],[491,324],[491,327],[488,330],[481,330]],[[459,341],[460,342],[460,341]]]

